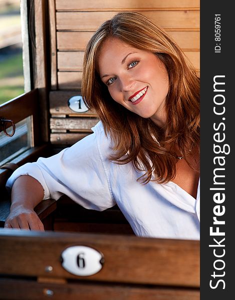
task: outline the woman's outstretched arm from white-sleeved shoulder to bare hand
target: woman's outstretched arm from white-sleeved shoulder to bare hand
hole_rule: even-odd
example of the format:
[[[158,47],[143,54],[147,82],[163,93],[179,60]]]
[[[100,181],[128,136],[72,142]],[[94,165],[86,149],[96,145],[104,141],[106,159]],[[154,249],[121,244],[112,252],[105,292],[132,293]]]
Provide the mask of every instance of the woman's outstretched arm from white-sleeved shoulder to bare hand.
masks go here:
[[[105,153],[102,159],[101,150]],[[63,194],[88,209],[104,210],[114,206],[116,202],[104,166],[104,160],[109,161],[110,151],[110,142],[102,130],[51,157],[40,157],[36,162],[20,166],[6,184],[7,189],[13,191],[11,212],[5,226],[35,229],[33,224],[35,218],[38,222],[38,217],[34,207],[43,198],[58,200]]]

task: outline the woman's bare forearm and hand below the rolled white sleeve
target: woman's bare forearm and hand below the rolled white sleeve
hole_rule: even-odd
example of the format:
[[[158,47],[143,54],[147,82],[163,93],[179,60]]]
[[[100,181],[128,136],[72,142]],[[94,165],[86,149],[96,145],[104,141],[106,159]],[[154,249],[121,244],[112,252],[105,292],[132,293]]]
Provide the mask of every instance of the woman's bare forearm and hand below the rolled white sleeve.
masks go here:
[[[16,179],[12,188],[12,205],[5,228],[44,230],[43,223],[34,207],[44,197],[44,189],[38,180],[23,175]]]

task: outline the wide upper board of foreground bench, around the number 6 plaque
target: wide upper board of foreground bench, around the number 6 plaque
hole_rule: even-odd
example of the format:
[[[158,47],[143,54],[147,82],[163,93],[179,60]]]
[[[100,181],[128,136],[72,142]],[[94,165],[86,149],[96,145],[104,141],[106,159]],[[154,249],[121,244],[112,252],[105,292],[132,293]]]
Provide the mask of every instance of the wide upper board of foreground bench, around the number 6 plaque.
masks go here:
[[[103,253],[104,265],[84,280],[199,287],[196,240],[0,228],[0,244],[2,275],[79,279],[62,267],[60,257],[68,246],[87,245]],[[48,265],[52,272],[45,270]]]

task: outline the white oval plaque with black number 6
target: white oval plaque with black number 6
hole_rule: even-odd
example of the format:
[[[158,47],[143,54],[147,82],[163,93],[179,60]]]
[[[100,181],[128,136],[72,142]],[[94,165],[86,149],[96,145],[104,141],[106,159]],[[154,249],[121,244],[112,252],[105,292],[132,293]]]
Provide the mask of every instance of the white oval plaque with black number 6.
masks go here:
[[[87,246],[72,246],[62,254],[62,266],[70,273],[79,276],[90,276],[102,269],[103,255]]]

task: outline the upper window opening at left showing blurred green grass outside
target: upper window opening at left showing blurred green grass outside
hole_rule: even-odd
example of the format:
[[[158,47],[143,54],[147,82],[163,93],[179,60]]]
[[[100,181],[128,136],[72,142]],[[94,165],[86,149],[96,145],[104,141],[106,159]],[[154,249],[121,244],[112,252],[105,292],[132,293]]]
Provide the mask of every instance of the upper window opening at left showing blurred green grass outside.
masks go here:
[[[0,0],[0,104],[24,93],[20,0]]]

